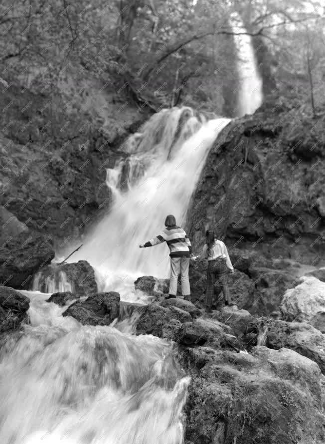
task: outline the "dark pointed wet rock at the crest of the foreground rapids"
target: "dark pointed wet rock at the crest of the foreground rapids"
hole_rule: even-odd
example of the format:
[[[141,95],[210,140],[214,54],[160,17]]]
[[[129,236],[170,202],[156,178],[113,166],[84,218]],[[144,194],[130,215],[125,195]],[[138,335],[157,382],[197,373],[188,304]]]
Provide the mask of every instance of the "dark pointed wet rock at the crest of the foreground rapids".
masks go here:
[[[119,317],[120,295],[115,291],[97,293],[71,304],[62,316],[72,316],[83,325],[109,325]]]

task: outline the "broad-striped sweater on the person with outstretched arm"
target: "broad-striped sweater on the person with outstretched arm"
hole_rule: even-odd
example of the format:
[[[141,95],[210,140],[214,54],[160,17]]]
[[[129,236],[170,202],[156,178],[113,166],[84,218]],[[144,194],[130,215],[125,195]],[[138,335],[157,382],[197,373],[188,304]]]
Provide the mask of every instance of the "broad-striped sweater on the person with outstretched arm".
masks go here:
[[[168,226],[158,234],[158,236],[146,242],[144,246],[158,245],[159,243],[167,242],[170,250],[170,257],[189,257],[192,246],[185,231],[179,226]]]

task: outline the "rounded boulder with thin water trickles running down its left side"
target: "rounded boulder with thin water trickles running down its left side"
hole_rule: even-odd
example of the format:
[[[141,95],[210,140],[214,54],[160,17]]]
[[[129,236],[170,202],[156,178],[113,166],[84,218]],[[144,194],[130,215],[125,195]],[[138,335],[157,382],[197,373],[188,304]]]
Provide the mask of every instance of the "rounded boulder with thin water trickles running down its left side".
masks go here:
[[[42,293],[70,291],[76,297],[98,291],[94,269],[86,260],[43,267],[34,277],[33,289]]]

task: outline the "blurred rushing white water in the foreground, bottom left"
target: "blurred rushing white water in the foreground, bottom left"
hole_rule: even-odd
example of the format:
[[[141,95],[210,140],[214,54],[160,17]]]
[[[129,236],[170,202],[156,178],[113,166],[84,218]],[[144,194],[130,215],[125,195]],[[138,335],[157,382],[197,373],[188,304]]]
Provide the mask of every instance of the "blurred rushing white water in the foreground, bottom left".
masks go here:
[[[31,325],[0,354],[1,444],[181,444],[189,378],[130,322],[81,326],[24,292]]]

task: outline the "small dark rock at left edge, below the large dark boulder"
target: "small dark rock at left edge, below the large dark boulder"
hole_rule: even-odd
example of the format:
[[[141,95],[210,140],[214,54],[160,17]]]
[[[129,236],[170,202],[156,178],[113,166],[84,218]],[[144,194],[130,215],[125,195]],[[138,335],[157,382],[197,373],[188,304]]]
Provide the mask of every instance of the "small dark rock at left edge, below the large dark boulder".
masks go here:
[[[10,287],[0,286],[0,333],[12,331],[27,321],[29,298]]]

